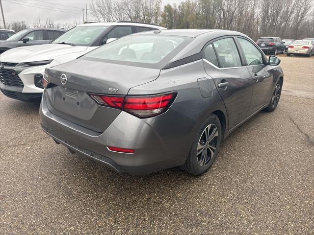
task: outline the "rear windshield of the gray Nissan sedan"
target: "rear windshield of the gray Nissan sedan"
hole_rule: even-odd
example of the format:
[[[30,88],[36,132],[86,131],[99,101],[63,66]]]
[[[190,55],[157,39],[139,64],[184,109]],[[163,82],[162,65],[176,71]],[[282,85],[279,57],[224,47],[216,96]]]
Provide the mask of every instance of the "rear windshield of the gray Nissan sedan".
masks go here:
[[[129,35],[105,44],[84,57],[105,62],[158,68],[170,61],[193,38],[166,35]],[[156,66],[154,66],[156,65]]]

